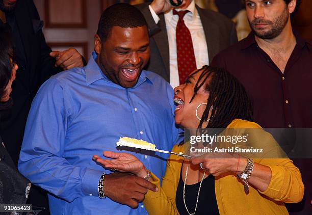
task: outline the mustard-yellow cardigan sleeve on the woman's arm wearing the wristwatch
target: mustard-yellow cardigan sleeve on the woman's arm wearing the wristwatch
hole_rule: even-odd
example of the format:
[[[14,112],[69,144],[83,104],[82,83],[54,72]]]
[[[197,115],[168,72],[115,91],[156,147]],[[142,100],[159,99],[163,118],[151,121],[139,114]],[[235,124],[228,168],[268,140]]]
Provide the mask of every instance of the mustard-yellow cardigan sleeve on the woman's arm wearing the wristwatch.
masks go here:
[[[236,120],[231,123],[230,127],[261,129],[256,132],[257,140],[255,142],[261,143],[264,148],[272,149],[264,158],[255,159],[255,162],[269,167],[272,173],[267,190],[264,192],[258,190],[258,192],[278,202],[300,202],[304,194],[300,171],[280,148],[272,135],[263,130],[258,124],[245,120]]]

